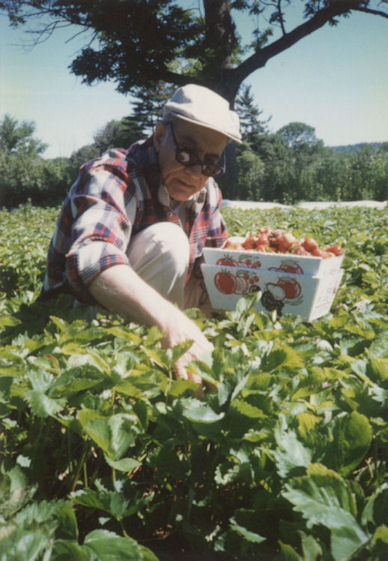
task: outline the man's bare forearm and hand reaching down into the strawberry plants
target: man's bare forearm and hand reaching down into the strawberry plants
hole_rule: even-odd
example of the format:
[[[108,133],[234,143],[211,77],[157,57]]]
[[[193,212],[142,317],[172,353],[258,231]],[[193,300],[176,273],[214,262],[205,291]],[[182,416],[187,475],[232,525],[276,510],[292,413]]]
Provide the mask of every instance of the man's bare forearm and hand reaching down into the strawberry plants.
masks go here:
[[[192,341],[189,350],[175,364],[176,376],[201,384],[201,379],[190,372],[188,364],[201,360],[205,353],[211,352],[212,343],[188,316],[163,298],[133,269],[127,265],[105,269],[91,282],[89,290],[108,310],[144,325],[156,325],[165,333],[166,347]]]

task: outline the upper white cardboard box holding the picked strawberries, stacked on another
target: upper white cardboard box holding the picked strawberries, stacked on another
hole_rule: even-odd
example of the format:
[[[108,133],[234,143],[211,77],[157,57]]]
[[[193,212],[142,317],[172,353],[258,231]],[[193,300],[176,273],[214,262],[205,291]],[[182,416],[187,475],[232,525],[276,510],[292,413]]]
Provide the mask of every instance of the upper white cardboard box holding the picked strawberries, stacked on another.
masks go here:
[[[235,236],[230,238],[230,240],[243,241],[244,238]],[[264,269],[267,271],[310,276],[336,276],[344,258],[343,255],[322,259],[321,257],[292,255],[289,253],[262,253],[259,251],[210,247],[203,249],[203,255],[205,263],[209,265]]]

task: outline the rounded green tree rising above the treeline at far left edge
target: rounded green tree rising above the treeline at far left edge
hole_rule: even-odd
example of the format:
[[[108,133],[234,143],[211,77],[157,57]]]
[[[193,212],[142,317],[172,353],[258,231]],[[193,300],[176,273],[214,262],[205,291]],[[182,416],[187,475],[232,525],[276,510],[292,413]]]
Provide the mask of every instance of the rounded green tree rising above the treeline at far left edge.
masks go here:
[[[5,115],[0,121],[0,150],[5,155],[36,157],[42,154],[47,144],[33,138],[35,123],[13,119]]]

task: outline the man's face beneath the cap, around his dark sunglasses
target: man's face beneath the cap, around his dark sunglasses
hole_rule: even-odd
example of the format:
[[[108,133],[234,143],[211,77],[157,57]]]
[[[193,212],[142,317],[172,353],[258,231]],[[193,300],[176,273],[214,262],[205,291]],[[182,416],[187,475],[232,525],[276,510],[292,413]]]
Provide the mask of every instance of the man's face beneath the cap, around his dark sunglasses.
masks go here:
[[[202,172],[201,164],[186,167],[175,159],[173,134],[180,149],[195,153],[203,162],[217,163],[227,143],[227,137],[219,132],[176,119],[172,125],[158,122],[154,135],[155,149],[159,155],[162,180],[170,197],[187,201],[204,187],[209,177]]]

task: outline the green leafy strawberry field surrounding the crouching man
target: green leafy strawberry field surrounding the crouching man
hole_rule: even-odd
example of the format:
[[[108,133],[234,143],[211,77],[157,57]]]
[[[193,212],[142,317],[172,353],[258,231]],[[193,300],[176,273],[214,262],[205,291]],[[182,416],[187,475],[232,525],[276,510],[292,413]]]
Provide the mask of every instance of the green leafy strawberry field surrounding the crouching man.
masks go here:
[[[311,323],[257,293],[190,310],[198,397],[187,346],[36,302],[57,210],[0,211],[0,561],[387,559],[387,211],[223,209],[339,244],[345,274]]]

